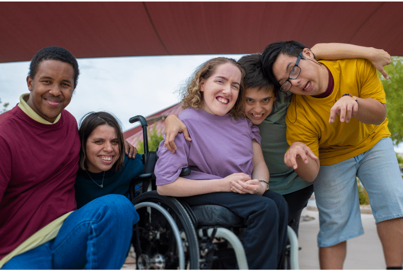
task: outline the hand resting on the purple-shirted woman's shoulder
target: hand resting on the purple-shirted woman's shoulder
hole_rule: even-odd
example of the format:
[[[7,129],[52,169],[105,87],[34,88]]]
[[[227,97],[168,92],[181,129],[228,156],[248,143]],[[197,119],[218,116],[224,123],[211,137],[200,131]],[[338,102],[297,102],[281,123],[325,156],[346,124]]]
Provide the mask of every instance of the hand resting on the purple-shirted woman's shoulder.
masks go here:
[[[175,137],[178,133],[183,132],[183,136],[187,141],[192,141],[189,136],[189,132],[187,132],[187,128],[185,124],[175,115],[170,114],[165,119],[165,142],[164,147],[167,148],[172,154],[175,153],[177,149],[175,145]]]

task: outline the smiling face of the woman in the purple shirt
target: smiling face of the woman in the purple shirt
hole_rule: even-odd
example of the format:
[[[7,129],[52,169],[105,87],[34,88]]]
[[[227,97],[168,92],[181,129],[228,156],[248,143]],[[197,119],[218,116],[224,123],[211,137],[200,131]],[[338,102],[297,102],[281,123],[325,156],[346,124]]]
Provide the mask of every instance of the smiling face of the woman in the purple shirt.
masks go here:
[[[235,105],[241,84],[241,71],[232,63],[217,66],[207,79],[200,79],[203,101],[200,109],[214,115],[225,115]]]

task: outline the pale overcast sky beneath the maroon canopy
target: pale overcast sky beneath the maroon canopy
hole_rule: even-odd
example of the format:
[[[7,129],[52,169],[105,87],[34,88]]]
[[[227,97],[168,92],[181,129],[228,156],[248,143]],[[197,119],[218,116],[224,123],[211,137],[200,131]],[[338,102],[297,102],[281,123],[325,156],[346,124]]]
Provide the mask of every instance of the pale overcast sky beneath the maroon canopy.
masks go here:
[[[128,130],[139,125],[130,124],[130,117],[147,117],[178,103],[175,91],[198,65],[216,56],[223,55],[78,59],[78,85],[66,110],[78,122],[89,111],[108,111],[120,119],[123,131]],[[28,67],[28,61],[0,63],[0,99],[10,103],[9,110],[28,92]],[[403,145],[395,150],[403,153]]]

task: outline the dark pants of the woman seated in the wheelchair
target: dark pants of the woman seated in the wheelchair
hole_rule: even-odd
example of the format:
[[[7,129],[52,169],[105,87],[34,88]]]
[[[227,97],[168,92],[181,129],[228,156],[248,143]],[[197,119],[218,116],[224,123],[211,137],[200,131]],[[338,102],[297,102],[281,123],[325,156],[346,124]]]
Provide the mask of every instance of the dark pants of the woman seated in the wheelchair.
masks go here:
[[[272,191],[262,196],[218,192],[183,199],[190,206],[220,205],[244,218],[243,245],[249,269],[277,269],[287,240],[287,202]]]

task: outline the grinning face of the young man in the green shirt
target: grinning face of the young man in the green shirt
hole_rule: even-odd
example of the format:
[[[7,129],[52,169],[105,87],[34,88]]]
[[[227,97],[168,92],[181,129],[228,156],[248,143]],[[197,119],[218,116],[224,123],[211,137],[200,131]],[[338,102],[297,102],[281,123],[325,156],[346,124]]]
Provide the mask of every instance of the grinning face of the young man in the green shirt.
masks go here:
[[[247,88],[244,98],[244,113],[253,124],[258,125],[272,112],[276,97],[273,88]]]

